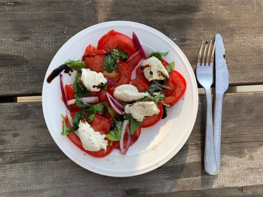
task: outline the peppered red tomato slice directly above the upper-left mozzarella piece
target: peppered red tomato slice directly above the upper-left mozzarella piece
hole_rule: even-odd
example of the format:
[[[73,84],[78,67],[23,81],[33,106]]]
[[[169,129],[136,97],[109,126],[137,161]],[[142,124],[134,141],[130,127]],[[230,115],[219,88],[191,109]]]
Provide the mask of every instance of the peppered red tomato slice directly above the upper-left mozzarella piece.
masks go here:
[[[86,53],[86,52],[85,52]],[[93,50],[83,56],[86,68],[96,72],[102,72],[104,66],[103,59],[107,52],[105,50]]]

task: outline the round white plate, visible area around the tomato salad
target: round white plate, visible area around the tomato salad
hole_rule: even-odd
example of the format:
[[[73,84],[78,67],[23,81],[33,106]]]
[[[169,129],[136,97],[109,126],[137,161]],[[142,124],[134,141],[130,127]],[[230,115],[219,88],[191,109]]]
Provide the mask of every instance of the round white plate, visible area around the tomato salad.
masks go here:
[[[112,29],[129,37],[132,37],[134,31],[142,47],[146,50],[146,55],[156,51],[169,51],[165,60],[168,62],[175,61],[175,70],[185,77],[187,89],[184,99],[167,108],[165,119],[153,127],[142,129],[140,138],[129,148],[126,155],[121,155],[120,151],[115,149],[109,156],[94,158],[76,147],[66,136],[61,135],[62,119],[60,114],[65,114],[66,106],[61,100],[59,77],[56,77],[50,84],[46,82],[46,79],[55,68],[69,58],[81,60],[86,46],[89,44],[97,46],[99,38]],[[74,78],[74,74],[70,77],[63,73],[64,84],[73,83]],[[161,32],[135,22],[105,22],[82,30],[58,50],[46,72],[42,91],[42,107],[51,136],[58,147],[72,161],[87,170],[102,175],[134,176],[149,172],[165,164],[185,144],[197,115],[197,83],[192,67],[183,52]]]

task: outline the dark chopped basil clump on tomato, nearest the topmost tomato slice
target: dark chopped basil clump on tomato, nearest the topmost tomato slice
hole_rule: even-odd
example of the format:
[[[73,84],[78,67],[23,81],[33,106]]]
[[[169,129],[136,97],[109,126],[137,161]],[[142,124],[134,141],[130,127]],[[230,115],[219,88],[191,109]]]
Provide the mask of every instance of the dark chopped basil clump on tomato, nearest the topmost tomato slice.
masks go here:
[[[106,70],[108,73],[112,73],[114,70],[118,70],[117,61],[120,59],[127,60],[127,58],[127,53],[119,51],[118,48],[113,49],[112,51],[108,49],[108,52],[103,59],[104,66],[102,69]]]

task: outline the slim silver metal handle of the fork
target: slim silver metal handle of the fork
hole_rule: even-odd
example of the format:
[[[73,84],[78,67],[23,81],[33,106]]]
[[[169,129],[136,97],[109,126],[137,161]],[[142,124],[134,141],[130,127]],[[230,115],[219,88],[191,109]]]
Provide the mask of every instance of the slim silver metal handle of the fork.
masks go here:
[[[205,171],[209,175],[217,174],[217,163],[215,158],[215,146],[213,135],[212,98],[210,88],[205,89],[206,94],[206,127],[205,127]]]

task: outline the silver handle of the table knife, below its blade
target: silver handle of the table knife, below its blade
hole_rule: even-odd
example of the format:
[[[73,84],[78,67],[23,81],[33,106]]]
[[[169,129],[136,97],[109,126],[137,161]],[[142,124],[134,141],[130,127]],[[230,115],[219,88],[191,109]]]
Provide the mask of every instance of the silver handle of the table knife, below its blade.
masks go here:
[[[214,99],[214,116],[213,116],[213,131],[215,155],[217,162],[217,173],[220,169],[220,148],[221,148],[221,123],[222,123],[222,106],[224,93],[216,93]]]

